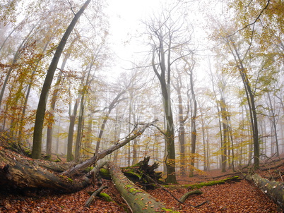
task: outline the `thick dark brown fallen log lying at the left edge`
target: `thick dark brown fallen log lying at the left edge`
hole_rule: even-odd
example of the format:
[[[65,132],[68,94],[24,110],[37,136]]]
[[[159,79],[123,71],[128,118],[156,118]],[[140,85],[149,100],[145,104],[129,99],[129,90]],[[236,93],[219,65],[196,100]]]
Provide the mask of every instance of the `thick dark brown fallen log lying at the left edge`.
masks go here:
[[[49,188],[62,193],[81,190],[90,183],[84,177],[78,181],[66,176],[57,176],[42,169],[34,160],[20,156],[0,147],[0,185],[13,188]]]

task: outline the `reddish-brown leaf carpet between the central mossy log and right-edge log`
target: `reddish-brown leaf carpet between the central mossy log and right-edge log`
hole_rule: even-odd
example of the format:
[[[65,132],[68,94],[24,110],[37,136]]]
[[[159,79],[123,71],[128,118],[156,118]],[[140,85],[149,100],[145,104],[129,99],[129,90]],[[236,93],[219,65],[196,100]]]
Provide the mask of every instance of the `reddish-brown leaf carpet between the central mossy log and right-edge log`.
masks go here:
[[[180,204],[168,193],[161,193],[160,190],[150,190],[151,195],[165,202],[167,207],[179,212],[278,212],[277,206],[255,185],[242,180],[235,183],[206,186],[200,189],[202,195],[189,197],[184,204]],[[188,189],[170,190],[178,199]],[[206,202],[201,207],[192,207]],[[191,205],[191,206],[190,206]]]

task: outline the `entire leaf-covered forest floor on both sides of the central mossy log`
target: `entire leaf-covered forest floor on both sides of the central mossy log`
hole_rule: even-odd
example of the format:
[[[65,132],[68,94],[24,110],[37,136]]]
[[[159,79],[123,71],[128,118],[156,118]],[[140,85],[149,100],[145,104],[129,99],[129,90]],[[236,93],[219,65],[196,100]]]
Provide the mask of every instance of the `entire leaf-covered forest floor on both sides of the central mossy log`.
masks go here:
[[[277,169],[257,171],[261,176],[276,178],[282,181],[284,176],[283,160],[278,162],[282,166]],[[219,177],[220,176],[220,177]],[[202,175],[189,178],[177,176],[179,184],[193,184],[212,180],[220,180],[235,176],[232,171],[222,173],[219,169],[208,171]],[[218,177],[218,178],[215,178]],[[77,193],[59,194],[49,190],[1,190],[0,189],[0,212],[131,212],[126,203],[119,195],[112,181],[102,180],[108,188],[103,190],[112,197],[113,202],[107,202],[96,197],[93,204],[87,208],[85,202],[90,195],[88,191],[94,191],[98,187],[90,185],[88,188]],[[168,208],[179,212],[282,212],[277,205],[265,195],[254,183],[242,179],[239,182],[224,183],[221,185],[206,186],[200,190],[201,195],[192,195],[184,204],[180,204],[174,197],[179,199],[187,193],[189,188],[171,188],[168,193],[162,188],[147,190],[150,195],[163,202]],[[174,197],[172,197],[174,195]],[[207,202],[206,202],[207,201]],[[192,207],[206,202],[200,207]]]

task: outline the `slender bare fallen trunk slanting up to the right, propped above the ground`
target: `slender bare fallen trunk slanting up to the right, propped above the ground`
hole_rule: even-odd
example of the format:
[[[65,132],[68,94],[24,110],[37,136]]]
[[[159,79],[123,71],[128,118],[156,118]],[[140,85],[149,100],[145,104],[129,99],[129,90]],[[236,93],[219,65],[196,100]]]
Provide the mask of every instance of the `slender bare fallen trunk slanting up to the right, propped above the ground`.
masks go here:
[[[120,143],[117,143],[116,145],[113,145],[112,147],[110,147],[107,150],[104,150],[103,152],[100,152],[96,155],[94,155],[93,157],[91,157],[90,159],[86,160],[85,162],[78,164],[76,166],[73,166],[71,169],[66,170],[64,172],[62,172],[62,175],[65,176],[71,176],[74,174],[78,174],[78,172],[84,170],[85,168],[87,168],[88,166],[95,164],[95,162],[97,162],[99,159],[103,159],[105,156],[107,156],[108,154],[111,154],[112,152],[114,152],[115,150],[119,150],[119,148],[123,147],[124,145],[128,144],[131,140],[134,140],[135,138],[137,138],[138,136],[142,135],[142,133],[146,130],[146,128],[148,128],[149,126],[152,126],[153,123],[155,123],[156,121],[153,121],[151,123],[146,123],[142,128],[140,128],[139,130],[134,130],[133,134],[131,136],[127,136],[125,138],[125,140],[123,140]]]

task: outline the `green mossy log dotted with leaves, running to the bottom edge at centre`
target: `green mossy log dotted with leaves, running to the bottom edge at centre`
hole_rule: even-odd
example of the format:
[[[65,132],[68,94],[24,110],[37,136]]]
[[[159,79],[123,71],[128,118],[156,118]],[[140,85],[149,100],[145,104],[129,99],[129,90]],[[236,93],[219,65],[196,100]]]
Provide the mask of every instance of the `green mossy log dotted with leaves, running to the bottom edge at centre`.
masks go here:
[[[172,212],[162,202],[158,202],[146,191],[138,188],[122,171],[113,164],[110,165],[110,175],[119,193],[131,208],[132,212]]]

